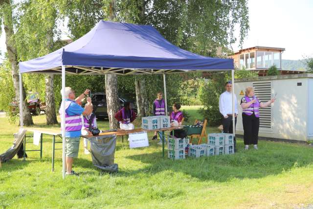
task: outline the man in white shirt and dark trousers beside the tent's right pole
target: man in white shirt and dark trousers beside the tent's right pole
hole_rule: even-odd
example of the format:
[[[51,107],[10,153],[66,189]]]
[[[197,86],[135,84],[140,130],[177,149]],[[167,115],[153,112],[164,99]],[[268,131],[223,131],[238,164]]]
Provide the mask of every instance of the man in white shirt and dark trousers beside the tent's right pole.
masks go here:
[[[221,94],[219,100],[220,113],[223,116],[223,133],[233,133],[233,103],[232,103],[232,84],[231,81],[225,83],[225,92]],[[235,103],[235,127],[237,123],[238,104],[237,97],[234,94]],[[234,148],[236,149],[236,139],[234,138]]]

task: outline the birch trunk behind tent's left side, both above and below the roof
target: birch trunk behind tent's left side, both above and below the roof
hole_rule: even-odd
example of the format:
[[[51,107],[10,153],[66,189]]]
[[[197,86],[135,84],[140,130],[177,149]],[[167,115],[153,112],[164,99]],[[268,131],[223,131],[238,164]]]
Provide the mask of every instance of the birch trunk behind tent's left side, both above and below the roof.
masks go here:
[[[49,52],[53,49],[53,28],[47,33],[47,48]],[[47,125],[58,124],[55,112],[54,92],[53,92],[53,74],[45,76],[45,119]]]

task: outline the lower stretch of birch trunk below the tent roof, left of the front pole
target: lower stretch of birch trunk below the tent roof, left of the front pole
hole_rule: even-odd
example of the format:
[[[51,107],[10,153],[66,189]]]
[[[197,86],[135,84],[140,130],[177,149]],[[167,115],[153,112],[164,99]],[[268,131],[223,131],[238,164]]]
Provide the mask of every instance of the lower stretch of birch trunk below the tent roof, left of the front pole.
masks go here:
[[[47,125],[58,124],[57,115],[55,113],[52,74],[45,76],[45,105],[45,119],[47,121]]]

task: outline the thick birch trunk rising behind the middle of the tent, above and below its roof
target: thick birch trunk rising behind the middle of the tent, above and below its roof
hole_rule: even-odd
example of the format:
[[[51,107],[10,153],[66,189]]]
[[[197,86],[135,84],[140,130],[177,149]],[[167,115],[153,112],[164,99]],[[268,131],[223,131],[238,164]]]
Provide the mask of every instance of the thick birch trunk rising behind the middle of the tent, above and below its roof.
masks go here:
[[[109,20],[115,19],[115,0],[111,0],[109,5]],[[119,128],[118,121],[114,118],[114,115],[119,111],[119,99],[117,92],[117,75],[105,75],[106,82],[106,97],[107,97],[107,112],[109,116],[110,129]]]

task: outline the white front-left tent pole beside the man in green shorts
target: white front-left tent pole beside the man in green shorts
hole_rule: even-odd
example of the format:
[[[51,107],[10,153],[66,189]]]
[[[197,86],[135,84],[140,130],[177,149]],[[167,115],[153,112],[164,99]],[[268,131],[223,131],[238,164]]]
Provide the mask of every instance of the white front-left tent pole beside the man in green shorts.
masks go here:
[[[65,66],[62,66],[62,120],[61,120],[61,127],[62,127],[62,174],[63,179],[65,179],[66,176],[66,142],[65,142]]]

